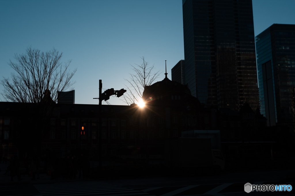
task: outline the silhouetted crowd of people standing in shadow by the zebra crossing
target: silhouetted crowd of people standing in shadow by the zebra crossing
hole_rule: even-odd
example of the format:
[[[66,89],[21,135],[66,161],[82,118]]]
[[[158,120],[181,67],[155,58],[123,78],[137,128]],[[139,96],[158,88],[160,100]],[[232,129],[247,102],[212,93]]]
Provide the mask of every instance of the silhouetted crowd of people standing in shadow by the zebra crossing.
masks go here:
[[[81,178],[81,174],[83,174],[83,179],[89,177],[90,162],[88,157],[84,157],[83,154],[81,154],[78,158],[73,155],[68,155],[64,158],[51,159],[46,154],[43,154],[43,156],[35,156],[34,158],[26,157],[22,161],[25,168],[24,176],[29,175],[32,177],[32,180],[35,180],[37,176],[37,179],[39,179],[39,169],[41,162],[44,162],[43,173],[45,172],[47,175],[51,176],[50,179],[75,179],[78,174],[79,178]],[[6,157],[3,158],[3,163],[7,164]],[[19,181],[22,180],[20,162],[16,156],[11,157],[9,166],[7,167],[4,175],[9,173],[11,176],[11,181],[13,181],[14,176],[17,176]]]

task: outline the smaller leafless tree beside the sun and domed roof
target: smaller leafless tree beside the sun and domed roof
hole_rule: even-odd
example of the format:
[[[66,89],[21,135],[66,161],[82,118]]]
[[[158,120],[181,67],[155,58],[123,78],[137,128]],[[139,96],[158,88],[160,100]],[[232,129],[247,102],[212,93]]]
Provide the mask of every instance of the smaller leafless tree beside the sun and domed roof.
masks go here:
[[[150,86],[159,77],[161,73],[154,72],[154,65],[149,66],[149,62],[145,61],[145,57],[141,57],[143,60],[141,65],[133,66],[131,69],[133,73],[129,73],[129,79],[124,79],[127,81],[128,85],[125,85],[127,92],[124,93],[121,99],[128,105],[134,102],[134,99],[139,102],[142,99],[142,93],[146,86]]]

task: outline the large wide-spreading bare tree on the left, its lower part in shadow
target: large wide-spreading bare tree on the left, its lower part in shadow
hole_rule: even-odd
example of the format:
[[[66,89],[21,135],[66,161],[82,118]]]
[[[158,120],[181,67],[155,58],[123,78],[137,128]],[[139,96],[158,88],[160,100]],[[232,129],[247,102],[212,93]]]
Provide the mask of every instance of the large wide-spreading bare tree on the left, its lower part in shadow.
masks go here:
[[[14,129],[12,138],[19,151],[32,151],[48,134],[58,115],[55,103],[58,91],[72,90],[72,77],[77,68],[69,70],[71,60],[63,65],[62,53],[55,48],[47,52],[28,47],[25,54],[15,54],[16,62],[8,65],[16,73],[1,80],[4,86],[1,95],[8,102],[16,102],[12,110]]]

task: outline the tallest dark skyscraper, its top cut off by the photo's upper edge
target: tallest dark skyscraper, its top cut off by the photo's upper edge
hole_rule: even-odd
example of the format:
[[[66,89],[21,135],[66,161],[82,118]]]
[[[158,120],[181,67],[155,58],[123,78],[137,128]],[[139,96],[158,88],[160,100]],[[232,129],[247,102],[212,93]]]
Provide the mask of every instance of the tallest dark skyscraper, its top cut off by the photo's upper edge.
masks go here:
[[[184,78],[201,103],[258,107],[252,0],[183,0]]]

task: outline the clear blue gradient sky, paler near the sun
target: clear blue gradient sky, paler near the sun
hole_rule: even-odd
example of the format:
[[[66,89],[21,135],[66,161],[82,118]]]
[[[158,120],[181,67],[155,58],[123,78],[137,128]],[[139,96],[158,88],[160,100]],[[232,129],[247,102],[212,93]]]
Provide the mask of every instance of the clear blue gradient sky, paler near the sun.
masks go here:
[[[274,23],[295,24],[295,0],[253,0],[253,17],[255,36]],[[1,0],[0,27],[0,77],[13,72],[7,62],[14,53],[55,47],[63,62],[71,59],[78,68],[76,104],[98,104],[92,98],[100,79],[105,89],[124,88],[130,64],[141,64],[142,56],[163,71],[158,81],[165,78],[165,60],[171,79],[171,68],[184,59],[181,0]],[[116,97],[108,101],[124,104]]]

